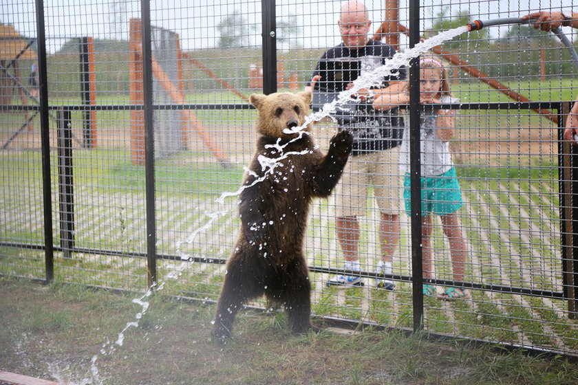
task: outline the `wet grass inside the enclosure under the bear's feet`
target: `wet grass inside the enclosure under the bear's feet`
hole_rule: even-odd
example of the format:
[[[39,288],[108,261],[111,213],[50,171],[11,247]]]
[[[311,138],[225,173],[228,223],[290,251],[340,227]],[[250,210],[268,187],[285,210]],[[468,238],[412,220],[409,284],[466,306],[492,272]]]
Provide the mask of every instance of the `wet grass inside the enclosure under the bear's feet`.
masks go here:
[[[140,298],[149,307],[133,300]],[[210,336],[213,306],[162,292],[111,294],[0,278],[0,369],[66,384],[570,385],[563,358],[420,334],[326,328],[294,336],[281,313],[239,316],[235,336]],[[137,317],[137,314],[139,315]]]

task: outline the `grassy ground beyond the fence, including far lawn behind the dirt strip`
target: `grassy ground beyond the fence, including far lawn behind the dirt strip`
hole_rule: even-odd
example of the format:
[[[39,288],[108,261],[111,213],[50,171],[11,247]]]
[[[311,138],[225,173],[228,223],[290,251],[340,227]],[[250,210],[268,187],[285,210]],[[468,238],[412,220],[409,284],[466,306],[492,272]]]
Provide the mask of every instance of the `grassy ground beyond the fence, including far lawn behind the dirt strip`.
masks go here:
[[[530,91],[533,100],[570,100],[570,80],[549,83],[512,83],[513,89]],[[473,82],[456,85],[462,102],[502,102],[502,94]],[[557,92],[561,93],[559,98]],[[126,94],[101,93],[98,104],[129,104]],[[190,103],[242,102],[228,91],[187,94]],[[72,96],[58,94],[51,104],[78,104]],[[219,144],[231,151],[233,168],[224,170],[199,143],[156,162],[156,221],[159,254],[207,259],[208,263],[158,261],[160,278],[170,294],[215,300],[224,267],[211,259],[226,259],[237,236],[235,198],[220,206],[222,192],[235,192],[253,149],[250,126],[254,111],[197,111]],[[104,254],[56,253],[58,281],[141,289],[146,286],[146,259],[123,254],[147,250],[144,193],[145,171],[131,162],[129,111],[99,111],[99,146],[74,148],[74,214],[76,247]],[[81,135],[81,115],[73,113],[73,129]],[[11,133],[19,114],[0,117],[2,133]],[[454,151],[465,206],[460,220],[468,240],[466,280],[482,285],[523,289],[562,290],[557,144],[552,124],[528,111],[462,111]],[[531,130],[528,130],[531,129]],[[246,131],[244,131],[246,130]],[[532,132],[529,132],[532,131]],[[35,135],[34,131],[28,135]],[[328,136],[328,133],[324,134]],[[52,131],[54,141],[54,131]],[[20,140],[20,137],[18,137]],[[198,141],[197,141],[198,142]],[[0,239],[8,243],[43,244],[43,195],[41,152],[21,140],[16,151],[0,153]],[[58,206],[58,158],[52,151],[53,236],[60,245]],[[378,219],[374,202],[361,221],[363,270],[372,272],[379,255]],[[341,267],[335,239],[334,203],[320,201],[310,217],[309,264]],[[215,213],[219,213],[215,216]],[[409,219],[402,215],[400,247],[394,256],[394,273],[411,275]],[[202,231],[197,231],[202,229]],[[434,232],[436,278],[451,280],[449,245],[436,225]],[[111,252],[111,253],[109,253]],[[108,255],[112,254],[112,255]],[[0,246],[0,272],[8,276],[43,278],[44,255],[33,248]],[[396,291],[372,287],[366,277],[363,288],[325,286],[328,274],[312,273],[314,313],[319,316],[361,320],[375,325],[411,326],[411,285],[398,281]],[[438,291],[444,287],[438,287]],[[253,305],[266,307],[263,301]],[[544,347],[554,351],[578,351],[575,320],[559,298],[521,296],[472,290],[468,300],[447,303],[426,298],[427,329],[470,338]]]

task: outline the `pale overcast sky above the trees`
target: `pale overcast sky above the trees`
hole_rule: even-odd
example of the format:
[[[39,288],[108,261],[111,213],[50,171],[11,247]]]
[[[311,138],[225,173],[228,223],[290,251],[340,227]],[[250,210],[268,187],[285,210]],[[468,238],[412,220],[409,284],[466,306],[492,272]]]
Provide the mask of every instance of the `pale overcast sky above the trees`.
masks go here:
[[[339,43],[336,19],[343,1],[277,0],[277,21],[295,15],[301,28],[299,44],[304,47],[330,47]],[[383,0],[367,0],[375,30],[383,21]],[[422,17],[427,28],[440,12],[443,3],[452,14],[469,11],[472,19],[520,17],[533,10],[554,9],[572,4],[572,0],[423,0]],[[47,50],[56,52],[69,38],[93,36],[96,39],[127,39],[128,20],[140,17],[138,0],[45,0]],[[14,25],[27,36],[36,35],[34,1],[0,0],[0,22]],[[407,21],[408,0],[400,0],[400,19]],[[246,23],[237,26],[246,36],[246,44],[259,45],[260,0],[163,0],[151,1],[153,25],[180,34],[184,50],[217,46],[216,26],[233,10],[240,12]],[[506,28],[491,28],[491,35],[500,36]],[[257,32],[255,32],[257,31]],[[403,42],[402,42],[403,43]]]

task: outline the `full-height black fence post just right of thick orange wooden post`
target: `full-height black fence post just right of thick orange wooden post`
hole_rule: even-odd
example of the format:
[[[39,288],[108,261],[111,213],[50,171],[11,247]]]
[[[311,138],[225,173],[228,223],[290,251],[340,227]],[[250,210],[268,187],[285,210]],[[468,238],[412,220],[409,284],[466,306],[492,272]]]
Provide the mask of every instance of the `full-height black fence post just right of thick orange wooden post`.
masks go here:
[[[147,273],[149,287],[157,282],[155,212],[155,141],[153,126],[153,60],[151,3],[140,1],[142,21],[142,94],[144,99],[144,185],[147,194]]]

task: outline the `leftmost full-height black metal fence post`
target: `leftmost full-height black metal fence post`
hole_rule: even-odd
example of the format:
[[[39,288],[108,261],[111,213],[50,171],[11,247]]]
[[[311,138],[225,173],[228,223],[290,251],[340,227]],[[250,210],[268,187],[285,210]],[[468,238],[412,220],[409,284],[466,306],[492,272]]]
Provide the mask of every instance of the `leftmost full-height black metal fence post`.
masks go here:
[[[42,153],[42,199],[44,208],[44,243],[46,281],[54,279],[54,245],[52,239],[52,194],[50,184],[50,135],[48,131],[48,81],[46,69],[46,35],[44,2],[36,0],[36,35],[38,43],[40,137]]]

